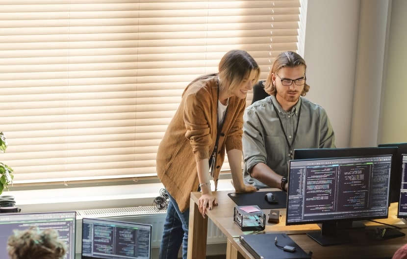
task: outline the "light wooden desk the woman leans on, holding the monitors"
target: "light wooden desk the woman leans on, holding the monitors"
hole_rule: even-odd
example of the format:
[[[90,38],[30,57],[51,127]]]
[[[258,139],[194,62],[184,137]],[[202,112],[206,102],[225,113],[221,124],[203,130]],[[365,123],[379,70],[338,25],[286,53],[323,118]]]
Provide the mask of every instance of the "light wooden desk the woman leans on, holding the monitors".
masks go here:
[[[277,191],[280,189],[262,189],[260,191]],[[243,234],[240,228],[233,221],[233,208],[236,204],[229,198],[228,193],[233,191],[216,191],[213,195],[216,197],[219,206],[212,207],[204,219],[198,209],[198,199],[201,192],[192,192],[190,200],[189,214],[189,235],[188,235],[188,259],[205,259],[206,257],[206,236],[208,218],[226,235],[227,237],[227,259],[253,259],[252,255],[240,244],[239,235]],[[255,205],[255,204],[254,204]],[[263,209],[268,218],[269,209]],[[401,246],[407,243],[407,237],[397,237],[388,240],[370,240],[364,232],[356,231],[352,242],[342,245],[322,246],[311,239],[305,233],[311,230],[320,230],[317,224],[285,226],[286,209],[280,208],[282,219],[279,224],[266,222],[265,233],[286,233],[288,234],[305,252],[312,251],[312,259],[372,259],[389,258]],[[397,218],[397,203],[391,204],[389,217],[387,219],[377,220],[390,225],[397,225],[403,228],[401,230],[407,233],[407,226]],[[374,222],[363,222],[367,228],[386,227]],[[247,232],[245,232],[247,233]],[[257,233],[261,234],[261,233]],[[360,235],[360,238],[358,238]]]

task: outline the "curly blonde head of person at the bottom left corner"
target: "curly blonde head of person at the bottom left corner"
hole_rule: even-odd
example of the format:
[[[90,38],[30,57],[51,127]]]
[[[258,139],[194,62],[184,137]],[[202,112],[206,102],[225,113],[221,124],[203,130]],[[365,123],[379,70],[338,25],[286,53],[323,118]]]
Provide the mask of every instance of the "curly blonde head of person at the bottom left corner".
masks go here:
[[[7,241],[10,259],[63,259],[66,250],[65,242],[53,229],[31,227],[24,231],[15,230]]]

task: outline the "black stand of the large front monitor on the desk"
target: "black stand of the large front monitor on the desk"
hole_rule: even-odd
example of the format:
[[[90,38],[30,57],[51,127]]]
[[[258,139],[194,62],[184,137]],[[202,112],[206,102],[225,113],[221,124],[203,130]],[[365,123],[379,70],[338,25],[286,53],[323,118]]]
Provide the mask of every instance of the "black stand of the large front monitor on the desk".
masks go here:
[[[308,232],[306,234],[322,246],[343,244],[349,242],[349,238],[346,238],[346,236],[338,235],[336,230],[336,222],[322,223],[321,231]]]

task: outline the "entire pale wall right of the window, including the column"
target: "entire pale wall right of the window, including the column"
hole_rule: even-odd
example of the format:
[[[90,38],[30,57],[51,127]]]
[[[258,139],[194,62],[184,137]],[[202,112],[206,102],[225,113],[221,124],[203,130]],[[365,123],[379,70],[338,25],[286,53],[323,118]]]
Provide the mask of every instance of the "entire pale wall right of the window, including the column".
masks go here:
[[[407,141],[407,1],[308,0],[306,10],[306,97],[327,110],[336,146]]]

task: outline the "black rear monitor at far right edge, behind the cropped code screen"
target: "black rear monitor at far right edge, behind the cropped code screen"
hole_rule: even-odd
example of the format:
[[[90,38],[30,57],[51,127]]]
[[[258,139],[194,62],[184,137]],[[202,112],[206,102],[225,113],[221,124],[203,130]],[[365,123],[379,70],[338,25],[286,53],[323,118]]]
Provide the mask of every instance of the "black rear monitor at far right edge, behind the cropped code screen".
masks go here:
[[[397,148],[397,154],[393,156],[393,165],[391,167],[390,202],[398,202],[400,199],[402,155],[407,154],[407,143],[379,144],[378,147]]]

